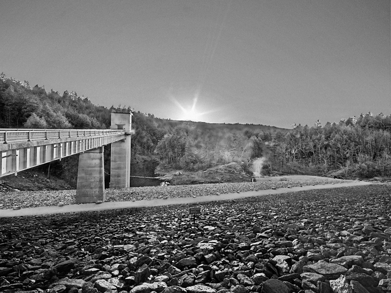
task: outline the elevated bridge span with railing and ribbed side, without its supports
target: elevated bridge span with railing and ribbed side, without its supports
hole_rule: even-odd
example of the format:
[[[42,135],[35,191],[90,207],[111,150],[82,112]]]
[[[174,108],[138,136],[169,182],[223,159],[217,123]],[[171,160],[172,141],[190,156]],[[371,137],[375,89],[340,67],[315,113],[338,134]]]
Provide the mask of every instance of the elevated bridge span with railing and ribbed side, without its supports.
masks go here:
[[[122,139],[123,129],[0,129],[0,177]]]

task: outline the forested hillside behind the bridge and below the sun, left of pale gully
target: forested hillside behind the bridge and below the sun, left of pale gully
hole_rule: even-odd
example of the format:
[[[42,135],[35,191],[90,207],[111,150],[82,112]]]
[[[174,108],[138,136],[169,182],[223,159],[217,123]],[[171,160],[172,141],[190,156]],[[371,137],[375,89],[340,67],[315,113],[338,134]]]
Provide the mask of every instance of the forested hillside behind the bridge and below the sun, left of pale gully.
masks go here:
[[[31,88],[27,81],[0,75],[0,128],[109,128],[112,109],[93,105],[75,91],[47,92],[43,86]],[[174,121],[131,111],[135,130],[131,139],[132,161],[160,160],[161,165],[168,164],[170,168],[195,170],[246,161],[261,155],[259,140],[254,140],[251,133],[287,131],[262,125]],[[109,154],[107,146],[106,173],[110,169]],[[77,164],[78,157],[71,156],[52,163],[51,172],[75,183]]]

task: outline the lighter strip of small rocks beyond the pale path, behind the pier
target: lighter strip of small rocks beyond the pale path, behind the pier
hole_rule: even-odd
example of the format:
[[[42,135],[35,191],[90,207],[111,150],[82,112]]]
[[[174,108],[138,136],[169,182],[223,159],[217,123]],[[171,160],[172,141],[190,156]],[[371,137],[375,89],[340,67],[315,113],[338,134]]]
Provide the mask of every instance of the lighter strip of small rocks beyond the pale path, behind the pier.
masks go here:
[[[241,182],[199,185],[177,186],[152,186],[132,187],[121,189],[106,189],[106,201],[133,201],[155,198],[175,198],[205,196],[216,193],[235,193],[244,191],[256,191],[271,188],[296,187],[318,184],[338,184],[348,182],[344,180],[316,179],[316,180],[281,180],[264,182]],[[75,204],[76,190],[45,190],[45,191],[17,191],[0,192],[0,209],[12,209],[13,207],[34,208],[42,206],[58,206]]]

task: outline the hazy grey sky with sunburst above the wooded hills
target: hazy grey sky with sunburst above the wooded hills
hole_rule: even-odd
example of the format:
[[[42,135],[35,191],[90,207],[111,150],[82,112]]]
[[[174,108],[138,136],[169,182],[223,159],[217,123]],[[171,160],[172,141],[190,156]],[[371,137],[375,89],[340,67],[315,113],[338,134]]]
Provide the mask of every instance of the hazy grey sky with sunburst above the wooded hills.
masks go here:
[[[390,43],[390,0],[0,1],[0,72],[160,118],[390,114]]]

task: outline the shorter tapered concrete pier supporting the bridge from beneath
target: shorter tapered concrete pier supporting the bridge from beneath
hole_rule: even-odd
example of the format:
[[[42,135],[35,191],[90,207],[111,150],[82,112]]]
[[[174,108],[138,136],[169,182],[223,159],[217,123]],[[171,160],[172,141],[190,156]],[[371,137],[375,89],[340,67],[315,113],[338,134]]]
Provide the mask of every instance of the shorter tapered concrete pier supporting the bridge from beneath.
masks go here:
[[[105,201],[104,147],[90,149],[80,154],[77,174],[76,203]]]

